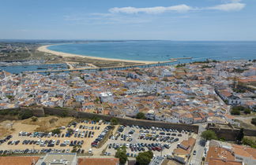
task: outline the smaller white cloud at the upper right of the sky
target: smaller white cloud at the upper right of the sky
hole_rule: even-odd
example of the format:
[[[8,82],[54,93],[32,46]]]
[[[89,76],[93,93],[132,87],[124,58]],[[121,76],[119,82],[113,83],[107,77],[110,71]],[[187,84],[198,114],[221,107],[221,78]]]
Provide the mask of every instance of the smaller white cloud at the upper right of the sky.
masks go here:
[[[230,11],[239,11],[243,9],[245,6],[246,4],[244,3],[233,2],[233,3],[222,4],[219,6],[208,7],[205,9],[216,9],[216,10],[230,12]]]

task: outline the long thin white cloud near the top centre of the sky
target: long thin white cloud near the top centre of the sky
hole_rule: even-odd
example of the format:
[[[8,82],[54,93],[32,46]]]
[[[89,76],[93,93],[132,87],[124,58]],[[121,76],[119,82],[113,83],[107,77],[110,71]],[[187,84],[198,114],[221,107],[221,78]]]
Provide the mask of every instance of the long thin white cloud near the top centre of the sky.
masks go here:
[[[109,9],[109,12],[111,13],[164,13],[168,11],[174,11],[174,12],[187,12],[191,10],[192,8],[190,6],[186,5],[179,5],[179,6],[156,6],[156,7],[149,7],[149,8],[135,8],[135,7],[122,7],[122,8],[111,8]]]

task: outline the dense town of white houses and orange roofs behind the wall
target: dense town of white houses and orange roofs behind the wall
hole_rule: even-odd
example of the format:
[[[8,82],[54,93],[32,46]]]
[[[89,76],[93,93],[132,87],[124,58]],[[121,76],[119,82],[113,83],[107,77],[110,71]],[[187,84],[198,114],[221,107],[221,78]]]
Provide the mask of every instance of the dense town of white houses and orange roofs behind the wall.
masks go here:
[[[255,63],[194,62],[106,72],[1,72],[0,108],[72,108],[170,123],[232,122],[232,105],[254,111]],[[240,90],[242,89],[242,90]]]

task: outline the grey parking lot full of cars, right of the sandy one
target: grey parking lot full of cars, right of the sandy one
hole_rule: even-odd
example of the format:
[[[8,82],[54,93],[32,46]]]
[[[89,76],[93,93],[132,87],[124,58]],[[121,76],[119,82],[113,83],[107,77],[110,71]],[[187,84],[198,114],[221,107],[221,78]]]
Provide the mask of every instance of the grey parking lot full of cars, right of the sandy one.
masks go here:
[[[117,148],[126,146],[127,156],[136,157],[139,152],[151,150],[155,156],[171,155],[177,145],[193,133],[157,127],[121,126],[107,141],[104,155],[115,156]],[[106,145],[105,145],[106,146]]]

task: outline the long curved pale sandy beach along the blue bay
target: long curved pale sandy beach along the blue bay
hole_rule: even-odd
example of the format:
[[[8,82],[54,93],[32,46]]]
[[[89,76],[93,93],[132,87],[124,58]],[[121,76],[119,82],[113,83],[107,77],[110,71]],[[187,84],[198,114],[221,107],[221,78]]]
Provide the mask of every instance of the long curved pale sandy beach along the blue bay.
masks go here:
[[[60,56],[60,57],[82,57],[82,58],[90,58],[90,59],[96,59],[96,60],[102,60],[102,61],[121,61],[121,62],[143,63],[143,64],[156,64],[159,62],[159,61],[130,61],[130,60],[121,60],[121,59],[114,59],[114,58],[84,56],[84,55],[78,55],[73,53],[63,53],[63,52],[57,52],[51,49],[47,49],[48,46],[52,46],[52,45],[40,46],[37,50],[44,53],[55,54],[56,56]]]

